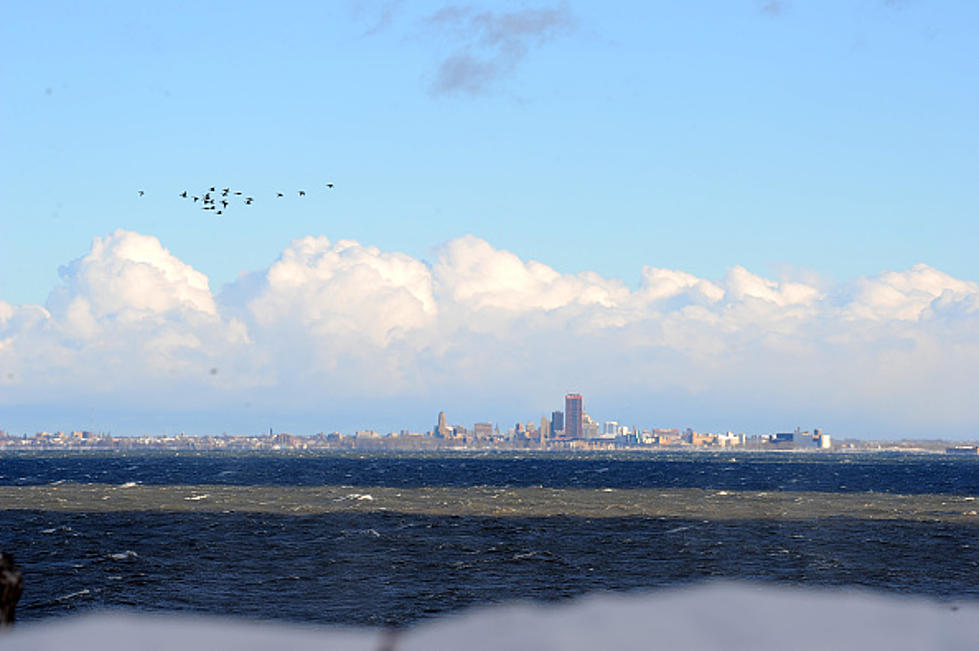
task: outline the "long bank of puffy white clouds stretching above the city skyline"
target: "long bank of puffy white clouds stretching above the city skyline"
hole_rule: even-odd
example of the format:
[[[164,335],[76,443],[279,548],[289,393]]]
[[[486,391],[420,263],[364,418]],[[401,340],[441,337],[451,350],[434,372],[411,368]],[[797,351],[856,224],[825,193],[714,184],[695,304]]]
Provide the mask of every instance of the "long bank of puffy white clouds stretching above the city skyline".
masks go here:
[[[304,237],[215,291],[156,238],[117,230],[61,269],[44,306],[0,301],[0,407],[256,401],[326,428],[344,405],[397,405],[416,425],[412,405],[533,417],[580,390],[616,410],[599,417],[644,426],[979,426],[979,285],[925,264],[828,287],[647,266],[630,288],[473,235],[433,257]],[[671,405],[696,411],[663,422]]]

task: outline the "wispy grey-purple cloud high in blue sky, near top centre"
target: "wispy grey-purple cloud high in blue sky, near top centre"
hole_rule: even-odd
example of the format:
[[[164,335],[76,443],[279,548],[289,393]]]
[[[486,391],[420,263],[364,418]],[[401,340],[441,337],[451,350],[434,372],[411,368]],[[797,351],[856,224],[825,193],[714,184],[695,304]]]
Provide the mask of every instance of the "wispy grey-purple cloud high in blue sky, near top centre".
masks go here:
[[[511,12],[449,5],[427,22],[453,44],[432,91],[478,94],[516,69],[532,48],[570,29],[574,19],[567,4]]]

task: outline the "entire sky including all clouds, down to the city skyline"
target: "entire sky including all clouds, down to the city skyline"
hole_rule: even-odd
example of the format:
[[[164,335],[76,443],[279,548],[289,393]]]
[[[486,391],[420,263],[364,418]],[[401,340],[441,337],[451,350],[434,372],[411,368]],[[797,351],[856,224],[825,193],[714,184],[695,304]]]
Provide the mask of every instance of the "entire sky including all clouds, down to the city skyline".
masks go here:
[[[507,427],[580,391],[641,427],[979,438],[977,25],[8,7],[0,428]],[[211,186],[243,194],[179,196]]]

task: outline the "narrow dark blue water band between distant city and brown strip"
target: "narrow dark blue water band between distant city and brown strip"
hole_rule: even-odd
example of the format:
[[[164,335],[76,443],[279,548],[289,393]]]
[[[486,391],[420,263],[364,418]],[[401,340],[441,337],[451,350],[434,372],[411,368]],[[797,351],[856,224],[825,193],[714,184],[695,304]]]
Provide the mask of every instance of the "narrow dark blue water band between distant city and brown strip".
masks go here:
[[[979,458],[908,454],[702,453],[481,456],[94,453],[0,458],[0,485],[537,486],[979,493]]]

